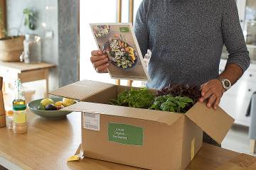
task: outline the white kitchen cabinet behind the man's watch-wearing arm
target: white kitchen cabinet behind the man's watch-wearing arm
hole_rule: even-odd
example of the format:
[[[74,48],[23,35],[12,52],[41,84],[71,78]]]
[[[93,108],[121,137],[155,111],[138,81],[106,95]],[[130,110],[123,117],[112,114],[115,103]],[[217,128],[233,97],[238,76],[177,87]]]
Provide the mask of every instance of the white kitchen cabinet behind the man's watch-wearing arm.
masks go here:
[[[225,69],[226,60],[220,61],[220,72]],[[247,108],[252,94],[256,91],[256,64],[250,67],[221,98],[220,107],[235,118],[239,125],[250,125],[250,117],[246,117]]]

